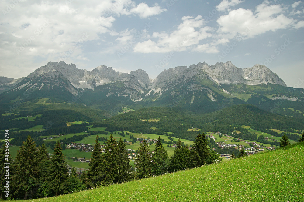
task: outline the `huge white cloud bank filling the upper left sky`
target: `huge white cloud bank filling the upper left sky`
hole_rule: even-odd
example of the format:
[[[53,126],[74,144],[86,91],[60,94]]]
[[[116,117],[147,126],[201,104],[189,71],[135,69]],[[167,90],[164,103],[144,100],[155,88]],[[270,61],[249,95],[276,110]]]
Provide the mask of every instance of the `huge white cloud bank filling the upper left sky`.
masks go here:
[[[6,10],[11,4],[11,0],[0,2],[5,8],[0,22],[0,60],[20,77],[49,61],[87,61],[85,46],[105,41],[106,33],[116,35],[117,43],[130,41],[132,37],[113,31],[113,23],[121,15],[145,18],[164,11],[158,5],[136,5],[130,0],[18,1]]]

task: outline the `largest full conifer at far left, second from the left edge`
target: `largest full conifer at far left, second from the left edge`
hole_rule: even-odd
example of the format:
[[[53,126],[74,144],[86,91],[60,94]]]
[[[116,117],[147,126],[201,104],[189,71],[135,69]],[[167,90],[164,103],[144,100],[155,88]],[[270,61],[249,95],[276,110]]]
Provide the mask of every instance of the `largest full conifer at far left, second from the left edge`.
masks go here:
[[[32,190],[39,181],[39,159],[36,152],[36,143],[28,135],[23,145],[19,147],[13,162],[14,174],[12,185],[15,187],[14,194],[22,195],[27,199],[28,192],[33,196]]]

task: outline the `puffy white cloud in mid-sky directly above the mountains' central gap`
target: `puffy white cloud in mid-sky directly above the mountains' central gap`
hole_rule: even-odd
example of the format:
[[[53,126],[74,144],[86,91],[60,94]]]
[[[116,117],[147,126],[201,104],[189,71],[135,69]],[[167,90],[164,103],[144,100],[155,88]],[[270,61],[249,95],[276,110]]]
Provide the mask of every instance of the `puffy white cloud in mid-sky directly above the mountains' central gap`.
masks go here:
[[[185,51],[193,45],[198,45],[199,41],[211,37],[209,31],[212,28],[205,26],[202,16],[196,18],[192,16],[182,17],[183,22],[178,25],[178,28],[170,34],[165,32],[154,32],[151,39],[139,42],[134,47],[134,52],[152,53],[152,52],[170,52],[170,51]]]

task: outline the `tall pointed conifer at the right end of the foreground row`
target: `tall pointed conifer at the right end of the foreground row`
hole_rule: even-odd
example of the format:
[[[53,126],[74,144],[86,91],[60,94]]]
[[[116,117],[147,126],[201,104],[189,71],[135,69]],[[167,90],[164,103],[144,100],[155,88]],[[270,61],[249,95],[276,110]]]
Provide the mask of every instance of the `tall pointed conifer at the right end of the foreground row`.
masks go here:
[[[205,133],[198,134],[193,142],[193,147],[190,151],[191,161],[189,162],[191,167],[201,166],[207,164],[210,158],[210,150],[207,147],[208,141],[206,140]]]

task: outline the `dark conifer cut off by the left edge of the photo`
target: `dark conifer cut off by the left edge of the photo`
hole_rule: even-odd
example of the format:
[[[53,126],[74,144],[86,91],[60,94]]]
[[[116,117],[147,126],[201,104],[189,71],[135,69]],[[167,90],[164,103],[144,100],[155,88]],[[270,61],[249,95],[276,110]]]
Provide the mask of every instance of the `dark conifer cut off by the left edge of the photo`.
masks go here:
[[[8,142],[7,142],[8,143]],[[6,159],[7,158],[7,159]],[[5,179],[6,174],[6,166],[9,164],[5,163],[11,163],[11,155],[9,154],[9,145],[3,144],[2,148],[0,148],[0,199],[5,199],[5,184],[6,181],[9,181],[8,179]],[[12,176],[12,171],[9,169],[9,176]]]

